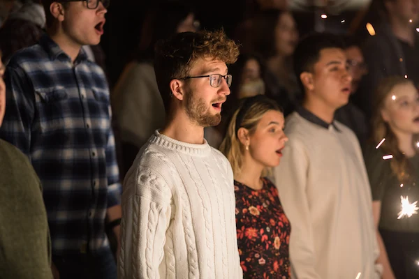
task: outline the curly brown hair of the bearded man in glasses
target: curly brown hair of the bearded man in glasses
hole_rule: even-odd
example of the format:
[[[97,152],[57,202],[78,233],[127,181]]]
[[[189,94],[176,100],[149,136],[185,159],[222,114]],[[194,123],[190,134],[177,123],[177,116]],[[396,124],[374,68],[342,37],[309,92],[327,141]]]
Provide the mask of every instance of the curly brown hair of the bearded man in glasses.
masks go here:
[[[198,59],[211,57],[235,63],[239,47],[221,30],[177,33],[156,43],[154,72],[166,112],[170,108],[170,81],[186,77]]]

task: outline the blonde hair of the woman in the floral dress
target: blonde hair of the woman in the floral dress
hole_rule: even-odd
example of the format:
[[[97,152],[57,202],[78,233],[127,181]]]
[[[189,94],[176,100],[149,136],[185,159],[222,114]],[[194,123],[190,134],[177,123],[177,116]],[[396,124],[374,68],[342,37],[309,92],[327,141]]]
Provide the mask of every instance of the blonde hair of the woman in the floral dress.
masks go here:
[[[219,150],[230,161],[234,176],[242,171],[243,156],[246,149],[237,137],[237,130],[245,128],[249,130],[250,135],[253,135],[260,119],[270,110],[282,112],[281,107],[274,100],[258,95],[242,99],[239,107],[233,113]],[[241,119],[240,123],[237,123],[237,116]],[[266,176],[269,172],[269,169],[264,169],[262,176]]]

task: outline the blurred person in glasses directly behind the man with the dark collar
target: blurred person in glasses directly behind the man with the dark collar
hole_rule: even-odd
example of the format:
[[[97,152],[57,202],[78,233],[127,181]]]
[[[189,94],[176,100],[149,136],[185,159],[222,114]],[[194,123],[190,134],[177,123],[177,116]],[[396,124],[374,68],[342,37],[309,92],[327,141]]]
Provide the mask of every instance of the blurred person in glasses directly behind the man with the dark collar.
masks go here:
[[[356,100],[359,100],[359,95],[363,93],[362,90],[358,90],[358,88],[362,81],[362,77],[367,74],[367,66],[360,45],[355,38],[344,36],[343,40],[348,71],[352,77],[351,96],[349,97],[348,104],[335,112],[335,119],[348,126],[348,128],[351,128],[356,137],[358,137],[361,146],[364,146],[369,134],[369,125],[364,112],[356,105]]]

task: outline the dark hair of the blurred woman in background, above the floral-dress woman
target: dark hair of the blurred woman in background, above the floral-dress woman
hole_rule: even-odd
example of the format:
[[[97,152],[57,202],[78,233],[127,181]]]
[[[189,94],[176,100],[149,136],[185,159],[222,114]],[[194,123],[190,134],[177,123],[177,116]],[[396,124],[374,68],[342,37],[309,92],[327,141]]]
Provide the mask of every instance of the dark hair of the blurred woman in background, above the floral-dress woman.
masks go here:
[[[277,54],[275,29],[284,13],[286,11],[276,9],[261,10],[257,13],[251,20],[249,43],[245,42],[244,52],[256,52],[263,56],[263,59]]]

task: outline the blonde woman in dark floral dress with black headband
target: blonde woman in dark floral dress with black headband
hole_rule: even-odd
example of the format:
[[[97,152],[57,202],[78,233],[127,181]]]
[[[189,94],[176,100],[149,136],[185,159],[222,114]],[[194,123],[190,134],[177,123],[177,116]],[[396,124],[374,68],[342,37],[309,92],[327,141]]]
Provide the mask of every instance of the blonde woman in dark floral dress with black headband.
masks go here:
[[[291,227],[277,188],[265,177],[279,165],[288,140],[284,115],[274,100],[242,100],[220,150],[233,168],[237,241],[244,278],[290,278]]]

